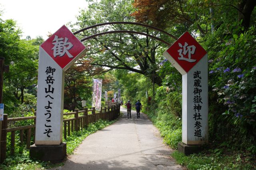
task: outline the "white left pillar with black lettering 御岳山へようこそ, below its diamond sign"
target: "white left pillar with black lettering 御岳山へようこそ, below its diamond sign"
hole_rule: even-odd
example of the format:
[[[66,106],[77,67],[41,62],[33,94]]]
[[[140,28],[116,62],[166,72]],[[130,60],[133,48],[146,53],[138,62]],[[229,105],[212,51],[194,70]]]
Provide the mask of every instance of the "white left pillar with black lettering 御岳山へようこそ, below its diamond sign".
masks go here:
[[[62,142],[64,71],[42,47],[39,47],[39,56],[35,144],[60,144]]]

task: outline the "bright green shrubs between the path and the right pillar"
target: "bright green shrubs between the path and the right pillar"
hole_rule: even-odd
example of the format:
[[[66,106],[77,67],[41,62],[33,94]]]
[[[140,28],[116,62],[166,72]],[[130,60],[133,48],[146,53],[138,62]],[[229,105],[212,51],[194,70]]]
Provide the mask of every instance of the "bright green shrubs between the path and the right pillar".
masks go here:
[[[182,140],[181,95],[161,86],[157,89],[156,101],[155,105],[147,106],[148,109],[143,111],[160,130],[164,142],[177,148],[178,142]]]

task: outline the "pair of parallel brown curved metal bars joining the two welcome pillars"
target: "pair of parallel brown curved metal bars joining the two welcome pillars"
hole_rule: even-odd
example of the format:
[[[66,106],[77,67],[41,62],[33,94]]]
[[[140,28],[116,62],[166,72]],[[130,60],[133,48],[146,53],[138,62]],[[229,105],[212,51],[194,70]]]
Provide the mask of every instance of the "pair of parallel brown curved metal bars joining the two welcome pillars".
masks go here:
[[[162,32],[164,34],[166,34],[167,36],[173,38],[174,40],[177,40],[178,38],[176,38],[175,36],[173,36],[172,34],[160,29],[160,28],[157,28],[157,27],[154,27],[154,26],[150,26],[150,25],[147,25],[147,24],[141,24],[141,23],[137,23],[137,22],[105,22],[105,23],[101,23],[101,24],[95,24],[95,25],[92,25],[92,26],[88,26],[86,28],[82,28],[81,30],[78,30],[76,32],[74,32],[73,34],[76,35],[76,34],[79,34],[80,32],[83,32],[85,30],[89,30],[91,28],[96,28],[96,27],[99,27],[99,26],[104,26],[104,25],[111,25],[111,24],[131,24],[131,25],[138,25],[138,26],[143,26],[143,27],[146,27],[146,28],[151,28],[153,30],[157,30],[159,32]],[[166,45],[170,45],[171,43],[168,43],[156,36],[152,36],[150,34],[146,34],[144,32],[136,32],[136,31],[129,31],[129,30],[116,30],[116,31],[108,31],[108,32],[101,32],[101,33],[98,33],[98,34],[94,34],[92,36],[88,36],[86,38],[83,38],[81,39],[80,41],[83,42],[85,40],[88,40],[88,39],[91,39],[91,38],[94,38],[96,36],[101,36],[101,35],[105,35],[105,34],[114,34],[114,33],[130,33],[130,34],[140,34],[140,35],[143,35],[143,36],[148,36],[150,38],[154,38],[162,43],[165,43]]]

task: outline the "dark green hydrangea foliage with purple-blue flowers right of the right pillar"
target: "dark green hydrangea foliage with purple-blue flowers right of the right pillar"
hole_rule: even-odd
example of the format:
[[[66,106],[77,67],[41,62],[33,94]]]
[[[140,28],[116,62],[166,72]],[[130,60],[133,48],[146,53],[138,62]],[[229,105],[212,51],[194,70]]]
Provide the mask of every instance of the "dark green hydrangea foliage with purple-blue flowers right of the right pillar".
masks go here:
[[[214,125],[210,120],[210,131],[222,133],[218,130],[224,126],[231,136],[236,134],[230,142],[238,144],[253,141],[256,136],[255,130],[252,130],[256,129],[256,55],[252,50],[256,48],[255,35],[254,27],[244,32],[239,23],[233,23],[228,27],[220,27],[204,43],[210,56],[209,80],[212,88],[209,89],[209,100],[212,102],[209,102],[209,115],[210,119],[216,119],[219,123]],[[237,135],[240,136],[240,142]],[[242,136],[246,136],[246,139]],[[243,146],[241,144],[240,147]]]

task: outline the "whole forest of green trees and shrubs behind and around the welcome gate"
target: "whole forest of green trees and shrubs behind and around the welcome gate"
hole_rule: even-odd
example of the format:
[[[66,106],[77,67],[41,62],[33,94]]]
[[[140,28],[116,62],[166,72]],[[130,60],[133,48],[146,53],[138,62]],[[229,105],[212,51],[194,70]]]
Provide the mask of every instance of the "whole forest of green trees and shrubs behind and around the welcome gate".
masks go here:
[[[67,24],[72,32],[112,21],[149,24],[177,38],[190,32],[209,57],[209,142],[215,147],[213,152],[242,150],[255,158],[255,0],[86,1],[88,8]],[[110,30],[145,32],[175,41],[155,30],[121,24],[86,30],[77,37]],[[0,56],[5,57],[6,64],[13,61],[4,74],[3,101],[8,117],[30,116],[31,108],[36,108],[38,49],[44,40],[21,36],[14,20],[0,19]],[[182,133],[182,78],[162,55],[168,46],[136,34],[99,36],[84,45],[86,55],[65,73],[64,109],[82,109],[82,100],[90,107],[92,77],[102,78],[102,96],[108,91],[111,99],[120,88],[124,102],[134,104],[140,99],[143,112],[160,129],[165,142],[177,148]],[[242,161],[246,162],[246,155]]]

